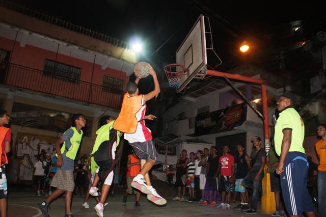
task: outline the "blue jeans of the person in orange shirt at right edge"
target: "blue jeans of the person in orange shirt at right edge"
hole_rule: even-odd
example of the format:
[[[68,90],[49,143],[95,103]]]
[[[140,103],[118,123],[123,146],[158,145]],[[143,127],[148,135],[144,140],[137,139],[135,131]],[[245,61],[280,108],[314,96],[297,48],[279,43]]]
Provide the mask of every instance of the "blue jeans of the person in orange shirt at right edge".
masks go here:
[[[326,172],[318,170],[318,216],[326,215]]]

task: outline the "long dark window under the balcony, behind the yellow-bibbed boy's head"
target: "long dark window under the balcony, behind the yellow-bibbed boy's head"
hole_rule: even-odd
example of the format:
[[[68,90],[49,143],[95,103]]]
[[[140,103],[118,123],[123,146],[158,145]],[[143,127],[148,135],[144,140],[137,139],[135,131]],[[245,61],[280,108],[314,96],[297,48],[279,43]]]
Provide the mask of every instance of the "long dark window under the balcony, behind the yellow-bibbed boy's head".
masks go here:
[[[72,126],[71,117],[73,114],[14,102],[10,116],[10,123],[14,125],[65,132]],[[93,118],[85,116],[85,119],[86,126],[82,130],[85,137],[91,137]]]

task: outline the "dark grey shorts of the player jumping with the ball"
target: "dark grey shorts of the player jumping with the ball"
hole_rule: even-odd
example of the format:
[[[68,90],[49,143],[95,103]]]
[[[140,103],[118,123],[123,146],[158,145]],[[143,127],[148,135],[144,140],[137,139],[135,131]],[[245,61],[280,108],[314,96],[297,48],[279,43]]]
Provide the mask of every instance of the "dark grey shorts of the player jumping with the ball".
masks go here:
[[[129,144],[132,146],[134,153],[138,156],[140,160],[147,161],[148,159],[152,159],[156,161],[155,165],[160,164],[162,162],[152,140],[143,143]]]

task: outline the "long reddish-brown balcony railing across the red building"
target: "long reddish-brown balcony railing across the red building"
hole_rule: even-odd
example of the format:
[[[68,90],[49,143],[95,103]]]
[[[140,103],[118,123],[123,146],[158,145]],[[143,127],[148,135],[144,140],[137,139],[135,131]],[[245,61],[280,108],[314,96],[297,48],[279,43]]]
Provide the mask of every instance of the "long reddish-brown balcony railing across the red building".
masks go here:
[[[13,87],[38,91],[69,99],[93,103],[120,110],[124,92],[79,80],[67,82],[70,78],[56,79],[41,70],[11,63],[1,63],[2,73],[6,73],[1,83]],[[0,76],[0,79],[3,76]]]

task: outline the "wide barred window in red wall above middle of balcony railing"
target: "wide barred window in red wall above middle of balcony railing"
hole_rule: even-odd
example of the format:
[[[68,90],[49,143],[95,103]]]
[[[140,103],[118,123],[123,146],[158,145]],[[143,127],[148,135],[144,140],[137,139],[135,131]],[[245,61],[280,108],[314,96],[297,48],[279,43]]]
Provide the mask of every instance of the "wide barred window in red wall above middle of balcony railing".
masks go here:
[[[79,84],[81,68],[58,63],[56,61],[45,60],[43,74],[54,77],[56,79],[64,80]]]

